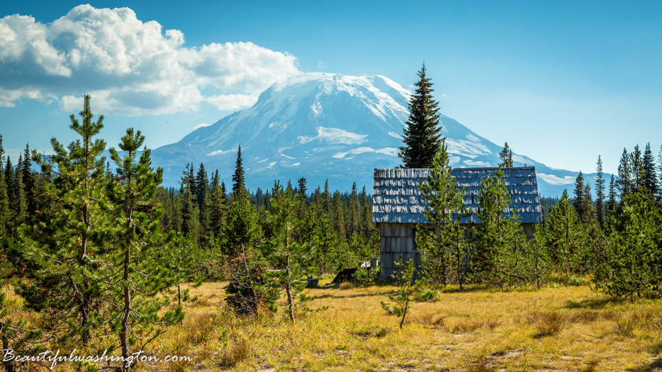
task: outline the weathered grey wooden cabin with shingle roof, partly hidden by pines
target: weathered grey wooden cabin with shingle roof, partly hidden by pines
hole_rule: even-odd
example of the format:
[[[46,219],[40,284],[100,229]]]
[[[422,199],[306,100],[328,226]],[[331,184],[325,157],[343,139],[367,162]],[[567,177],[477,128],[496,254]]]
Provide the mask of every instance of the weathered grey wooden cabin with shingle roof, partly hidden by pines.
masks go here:
[[[389,280],[398,269],[394,262],[402,256],[406,262],[412,258],[416,265],[421,263],[421,254],[415,242],[417,223],[428,223],[423,212],[428,203],[419,192],[419,180],[426,182],[432,169],[374,169],[374,191],[372,193],[372,222],[381,234],[381,277]],[[465,189],[464,204],[472,211],[479,209],[478,196],[481,180],[489,174],[496,177],[498,168],[452,169],[455,187]],[[535,167],[503,168],[505,187],[510,194],[510,208],[503,212],[512,216],[516,209],[527,238],[534,233],[534,224],[542,223],[540,195]],[[481,223],[473,214],[461,223]],[[437,228],[438,229],[438,228]]]

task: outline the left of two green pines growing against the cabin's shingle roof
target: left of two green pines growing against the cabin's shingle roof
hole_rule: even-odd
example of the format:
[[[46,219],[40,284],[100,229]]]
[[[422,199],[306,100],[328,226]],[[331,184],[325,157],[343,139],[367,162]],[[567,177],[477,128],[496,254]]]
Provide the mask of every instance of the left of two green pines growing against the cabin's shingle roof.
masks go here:
[[[451,176],[448,152],[444,141],[441,149],[432,160],[432,170],[428,183],[419,183],[423,200],[430,207],[425,208],[425,219],[434,225],[417,226],[416,242],[421,251],[424,266],[423,272],[431,285],[446,285],[449,276],[457,278],[462,289],[466,262],[470,253],[470,242],[467,240],[465,228],[461,226],[462,218],[471,216],[471,209],[465,209],[464,189],[455,188],[455,177]],[[435,231],[439,229],[439,234]]]

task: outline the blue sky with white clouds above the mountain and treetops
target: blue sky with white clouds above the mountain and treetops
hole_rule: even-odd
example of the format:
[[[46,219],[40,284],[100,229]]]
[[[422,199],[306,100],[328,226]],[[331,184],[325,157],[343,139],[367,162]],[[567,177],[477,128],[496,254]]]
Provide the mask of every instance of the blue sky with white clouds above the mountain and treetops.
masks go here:
[[[14,1],[0,10],[34,17],[0,21],[0,133],[14,163],[26,142],[48,151],[51,136],[73,139],[68,115],[85,92],[106,115],[110,145],[132,126],[154,148],[297,71],[381,74],[407,87],[423,61],[443,114],[551,167],[594,172],[601,154],[615,172],[623,147],[650,141],[657,154],[662,143],[659,2],[93,1],[77,14],[97,32],[112,23],[141,36],[132,50],[112,38],[79,45],[97,53],[87,62],[58,56],[74,49],[71,39],[48,39],[85,33],[75,14],[54,22],[77,6]],[[103,10],[121,7],[134,16]],[[35,42],[39,32],[51,49]],[[153,61],[154,50],[167,57]],[[127,72],[135,63],[139,73]]]

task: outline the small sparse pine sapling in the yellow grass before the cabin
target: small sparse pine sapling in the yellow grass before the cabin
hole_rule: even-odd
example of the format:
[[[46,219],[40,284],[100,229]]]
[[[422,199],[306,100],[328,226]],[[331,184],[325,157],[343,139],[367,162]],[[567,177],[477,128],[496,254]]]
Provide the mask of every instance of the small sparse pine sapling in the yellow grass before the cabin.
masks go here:
[[[417,270],[414,267],[414,260],[411,258],[407,263],[403,263],[401,257],[395,264],[401,268],[399,272],[392,275],[397,280],[399,289],[395,294],[388,295],[388,298],[394,304],[389,305],[382,301],[381,307],[390,315],[401,316],[400,328],[402,328],[409,309],[409,303],[412,298],[418,296],[425,289],[425,278],[416,279]]]

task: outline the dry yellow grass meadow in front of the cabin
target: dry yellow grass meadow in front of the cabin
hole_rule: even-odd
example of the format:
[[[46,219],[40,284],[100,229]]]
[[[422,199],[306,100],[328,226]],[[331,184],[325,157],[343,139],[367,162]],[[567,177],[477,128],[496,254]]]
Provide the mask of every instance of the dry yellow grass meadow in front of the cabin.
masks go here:
[[[328,280],[326,280],[328,282]],[[190,362],[141,371],[661,371],[662,301],[614,302],[588,287],[447,289],[413,302],[403,329],[386,315],[395,287],[306,289],[329,308],[290,324],[223,309],[223,283],[191,289],[185,309],[149,350]],[[558,322],[559,325],[556,327]],[[552,331],[544,332],[548,326]],[[543,327],[543,330],[539,329]]]

